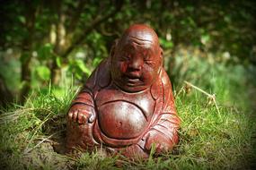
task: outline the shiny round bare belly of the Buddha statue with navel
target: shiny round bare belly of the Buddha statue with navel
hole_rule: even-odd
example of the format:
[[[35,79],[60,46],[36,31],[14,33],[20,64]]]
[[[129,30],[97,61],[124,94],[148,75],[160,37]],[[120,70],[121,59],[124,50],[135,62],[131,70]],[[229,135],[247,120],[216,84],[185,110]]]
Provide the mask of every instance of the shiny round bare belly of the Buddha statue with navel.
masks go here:
[[[147,125],[142,110],[127,101],[106,103],[98,111],[102,132],[113,139],[136,138]]]

